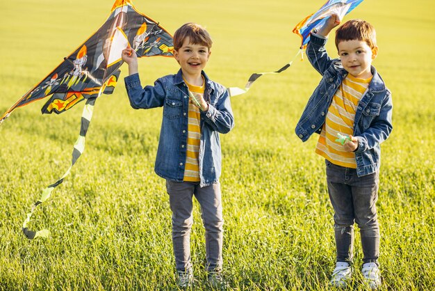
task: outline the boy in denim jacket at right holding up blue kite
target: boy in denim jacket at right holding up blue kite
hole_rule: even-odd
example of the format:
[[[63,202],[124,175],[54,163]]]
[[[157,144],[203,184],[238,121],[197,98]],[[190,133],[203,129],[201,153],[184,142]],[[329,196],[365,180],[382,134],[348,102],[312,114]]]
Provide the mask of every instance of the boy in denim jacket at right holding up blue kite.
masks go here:
[[[332,15],[317,33],[311,34],[306,55],[322,74],[322,80],[306,104],[295,132],[302,141],[314,132],[320,134],[315,152],[325,157],[337,252],[330,284],[345,287],[352,276],[356,222],[361,233],[363,276],[370,288],[376,289],[381,284],[375,205],[379,145],[393,128],[393,104],[391,92],[371,65],[378,48],[375,29],[368,22],[356,19],[340,26],[336,31],[340,58],[329,58],[325,49],[327,36],[339,23],[338,16]]]

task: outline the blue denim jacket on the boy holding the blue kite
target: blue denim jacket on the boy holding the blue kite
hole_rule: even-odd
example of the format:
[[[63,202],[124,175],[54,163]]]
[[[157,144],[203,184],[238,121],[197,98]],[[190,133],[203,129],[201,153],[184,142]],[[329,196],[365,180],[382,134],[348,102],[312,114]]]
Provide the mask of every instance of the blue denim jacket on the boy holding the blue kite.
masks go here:
[[[311,34],[311,40],[306,47],[307,58],[323,77],[296,125],[295,132],[302,141],[309,139],[314,132],[320,133],[332,97],[347,76],[340,59],[331,59],[327,55],[326,42],[327,39]],[[371,70],[372,81],[359,101],[354,120],[353,135],[358,139],[358,148],[355,150],[356,173],[359,177],[379,170],[379,145],[388,138],[393,129],[391,91],[386,88],[373,66]]]

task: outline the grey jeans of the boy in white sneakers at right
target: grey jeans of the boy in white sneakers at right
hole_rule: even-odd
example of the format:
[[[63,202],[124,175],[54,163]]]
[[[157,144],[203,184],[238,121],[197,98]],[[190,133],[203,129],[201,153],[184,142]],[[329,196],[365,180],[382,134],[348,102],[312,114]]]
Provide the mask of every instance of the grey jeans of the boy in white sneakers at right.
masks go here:
[[[363,263],[379,258],[379,223],[376,201],[379,171],[358,177],[356,169],[325,160],[329,198],[334,208],[337,262],[352,262],[354,222],[359,227]]]

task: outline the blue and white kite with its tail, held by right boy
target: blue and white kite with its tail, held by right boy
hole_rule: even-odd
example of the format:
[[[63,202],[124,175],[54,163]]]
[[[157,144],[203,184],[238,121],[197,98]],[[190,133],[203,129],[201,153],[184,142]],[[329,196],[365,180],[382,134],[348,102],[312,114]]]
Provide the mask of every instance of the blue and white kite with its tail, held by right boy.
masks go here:
[[[359,3],[361,3],[362,1],[363,0],[329,0],[325,4],[323,4],[323,6],[317,12],[312,13],[311,15],[302,19],[302,21],[299,22],[293,29],[293,33],[296,33],[302,38],[302,45],[299,47],[299,51],[297,52],[296,56],[300,53],[301,57],[303,58],[303,49],[309,42],[311,31],[313,31],[314,29],[320,29],[320,27],[325,24],[328,17],[331,15],[336,14],[340,17],[340,19],[343,19],[343,17],[347,13],[350,13],[350,11],[354,10],[354,8],[358,6]],[[256,81],[256,79],[258,79],[259,77],[263,76],[263,74],[279,74],[280,72],[287,70],[293,64],[296,56],[293,58],[292,61],[290,61],[289,63],[284,65],[284,67],[277,71],[252,74],[251,77],[249,77],[245,88],[228,88],[229,95],[236,96],[247,93],[247,91],[249,91],[249,88],[251,88],[252,83],[254,83],[254,81]]]

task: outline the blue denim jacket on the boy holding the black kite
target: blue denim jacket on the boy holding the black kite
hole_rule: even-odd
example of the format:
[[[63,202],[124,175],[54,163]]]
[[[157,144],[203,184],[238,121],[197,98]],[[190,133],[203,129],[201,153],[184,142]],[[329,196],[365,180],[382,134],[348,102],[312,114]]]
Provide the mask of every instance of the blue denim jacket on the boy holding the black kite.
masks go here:
[[[199,146],[199,178],[204,187],[216,182],[221,173],[219,133],[226,134],[234,125],[229,94],[224,86],[208,79],[204,99],[208,111],[201,111],[201,142]],[[188,86],[181,70],[161,77],[154,86],[142,89],[138,74],[125,78],[131,107],[149,109],[163,107],[163,120],[154,171],[167,180],[181,182],[184,177],[188,139]]]

